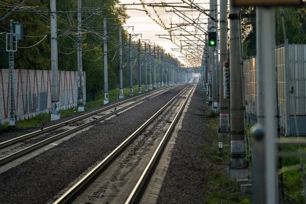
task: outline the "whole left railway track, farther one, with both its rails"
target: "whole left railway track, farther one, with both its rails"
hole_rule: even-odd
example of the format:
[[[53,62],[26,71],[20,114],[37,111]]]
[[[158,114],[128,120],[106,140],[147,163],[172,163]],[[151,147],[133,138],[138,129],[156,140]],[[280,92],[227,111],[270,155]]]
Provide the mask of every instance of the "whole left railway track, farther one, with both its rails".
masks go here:
[[[65,121],[65,122],[50,126],[50,127],[46,127],[43,130],[36,131],[36,132],[30,133],[27,135],[23,135],[23,136],[8,140],[3,143],[0,143],[0,157],[1,157],[0,172],[4,172],[13,166],[16,166],[16,165],[12,165],[12,166],[8,165],[8,167],[2,168],[3,166],[9,164],[10,162],[18,158],[25,157],[31,152],[37,149],[43,148],[44,146],[50,143],[53,143],[57,140],[60,140],[61,138],[69,136],[78,131],[82,131],[86,127],[90,126],[91,124],[97,121],[104,120],[106,118],[113,116],[114,114],[118,112],[124,111],[137,104],[140,104],[146,98],[155,97],[177,86],[180,86],[180,85],[165,87],[163,89],[158,89],[158,90],[155,90],[149,93],[145,93],[145,94],[133,97],[131,99],[127,99],[119,103],[113,104],[111,106],[93,111],[91,113],[84,114],[77,118],[73,118],[71,120],[68,120],[68,121]],[[35,141],[34,144],[30,143],[31,145],[28,144],[28,146],[24,145],[23,142],[28,141],[28,140],[34,140],[34,141],[38,140],[38,142]],[[25,158],[24,160],[27,160],[27,158]]]

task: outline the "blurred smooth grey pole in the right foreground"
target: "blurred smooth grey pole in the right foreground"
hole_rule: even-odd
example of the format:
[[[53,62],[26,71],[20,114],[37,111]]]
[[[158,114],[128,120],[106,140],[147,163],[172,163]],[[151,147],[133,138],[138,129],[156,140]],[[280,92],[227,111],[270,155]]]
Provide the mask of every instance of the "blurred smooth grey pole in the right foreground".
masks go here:
[[[276,145],[277,137],[277,107],[276,104],[276,73],[275,73],[275,17],[274,7],[257,7],[257,75],[258,88],[258,125],[263,130],[264,149],[254,149],[257,159],[253,165],[260,165],[258,172],[253,172],[254,203],[278,203]],[[260,75],[259,75],[260,74]],[[270,108],[265,108],[270,107]],[[256,143],[255,143],[256,142]],[[262,144],[254,141],[255,145]],[[264,153],[264,154],[263,154]],[[262,165],[264,164],[264,165]],[[264,178],[263,178],[264,176]],[[261,186],[263,185],[264,186]],[[255,192],[257,190],[257,192]]]

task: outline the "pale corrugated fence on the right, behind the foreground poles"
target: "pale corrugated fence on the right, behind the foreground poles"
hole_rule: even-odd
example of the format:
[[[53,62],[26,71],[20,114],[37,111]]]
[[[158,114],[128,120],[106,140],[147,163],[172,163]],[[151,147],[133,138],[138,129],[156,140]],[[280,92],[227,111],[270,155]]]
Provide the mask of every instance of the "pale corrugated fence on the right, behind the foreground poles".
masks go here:
[[[282,135],[306,135],[306,45],[283,44],[275,49],[278,125]],[[256,58],[244,62],[245,116],[257,122]],[[274,106],[271,104],[271,106]],[[296,119],[295,119],[296,115]]]

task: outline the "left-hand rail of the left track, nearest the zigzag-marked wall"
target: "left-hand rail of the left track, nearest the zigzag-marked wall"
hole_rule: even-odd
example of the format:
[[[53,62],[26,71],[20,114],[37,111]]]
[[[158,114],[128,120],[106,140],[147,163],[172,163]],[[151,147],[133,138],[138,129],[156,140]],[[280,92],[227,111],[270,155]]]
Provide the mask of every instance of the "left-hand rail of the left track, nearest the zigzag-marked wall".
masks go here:
[[[53,130],[58,129],[59,127],[65,126],[65,125],[67,125],[67,124],[69,124],[69,123],[72,123],[72,122],[76,122],[76,121],[85,119],[85,118],[87,118],[87,117],[90,117],[90,116],[92,116],[92,115],[94,115],[94,114],[97,114],[97,113],[100,113],[100,112],[103,112],[103,111],[107,111],[107,110],[112,109],[112,108],[114,108],[114,107],[116,107],[116,106],[119,106],[119,105],[128,103],[128,102],[130,102],[130,101],[132,101],[132,100],[141,98],[141,97],[146,96],[146,95],[150,95],[150,94],[155,93],[155,92],[157,92],[157,91],[160,91],[160,90],[162,90],[162,89],[166,89],[166,88],[171,89],[171,88],[175,88],[175,87],[177,87],[177,86],[179,86],[179,85],[170,86],[170,88],[169,88],[169,87],[164,87],[164,88],[161,88],[161,89],[157,89],[157,90],[154,90],[154,91],[150,91],[150,92],[148,92],[148,93],[144,93],[144,94],[141,94],[141,95],[139,95],[139,96],[136,96],[136,97],[133,97],[133,98],[130,98],[130,99],[127,99],[127,100],[123,100],[123,101],[118,102],[118,103],[116,103],[116,104],[113,104],[113,105],[110,105],[110,106],[108,106],[108,107],[105,107],[105,108],[102,108],[102,109],[99,109],[99,110],[96,110],[96,111],[93,111],[93,112],[90,112],[90,113],[81,115],[81,116],[79,116],[79,117],[76,117],[76,118],[67,120],[67,121],[65,121],[65,122],[61,122],[61,123],[55,124],[55,125],[53,125],[53,126],[46,127],[46,128],[44,128],[43,130],[35,131],[35,132],[33,132],[33,133],[29,133],[29,134],[26,134],[26,135],[22,135],[22,136],[13,138],[13,139],[11,139],[11,140],[7,140],[7,141],[5,141],[5,142],[0,143],[0,149],[3,149],[3,148],[5,148],[5,147],[10,146],[10,145],[12,145],[12,144],[15,144],[15,143],[17,143],[17,142],[21,142],[21,141],[23,141],[23,140],[26,140],[26,139],[29,139],[29,138],[32,138],[32,137],[41,135],[41,134],[43,134],[43,133],[46,133],[46,132],[49,132],[49,131],[53,131]]]

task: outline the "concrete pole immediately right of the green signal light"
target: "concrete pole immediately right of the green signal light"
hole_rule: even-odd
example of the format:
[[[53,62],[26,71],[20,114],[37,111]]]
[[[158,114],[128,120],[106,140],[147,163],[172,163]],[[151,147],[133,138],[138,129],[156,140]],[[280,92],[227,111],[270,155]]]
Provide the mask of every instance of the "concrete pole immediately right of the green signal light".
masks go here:
[[[228,101],[223,97],[223,62],[227,61],[227,0],[220,0],[220,131],[227,134],[228,125]]]

